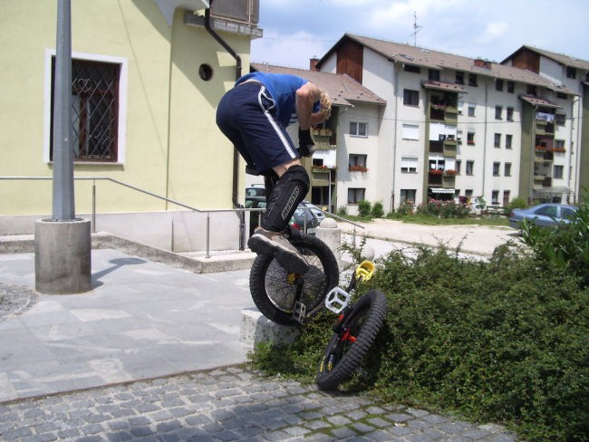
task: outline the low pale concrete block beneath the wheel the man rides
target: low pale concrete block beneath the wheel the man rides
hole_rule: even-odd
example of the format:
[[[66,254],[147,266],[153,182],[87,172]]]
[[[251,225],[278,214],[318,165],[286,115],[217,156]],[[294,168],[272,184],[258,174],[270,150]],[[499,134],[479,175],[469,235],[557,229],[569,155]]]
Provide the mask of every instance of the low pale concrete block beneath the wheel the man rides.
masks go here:
[[[298,327],[289,327],[270,321],[256,308],[241,311],[239,341],[254,347],[258,343],[289,344],[300,334]]]

